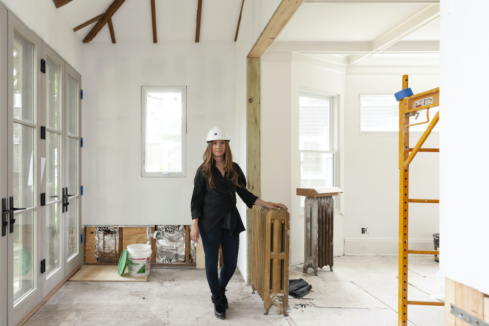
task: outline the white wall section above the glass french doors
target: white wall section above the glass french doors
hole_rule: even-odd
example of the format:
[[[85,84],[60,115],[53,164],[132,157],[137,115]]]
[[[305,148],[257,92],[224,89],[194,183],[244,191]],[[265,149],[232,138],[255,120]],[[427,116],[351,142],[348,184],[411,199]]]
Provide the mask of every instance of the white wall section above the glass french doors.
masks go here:
[[[56,10],[52,0],[2,2],[83,77],[83,43],[73,33],[63,15]]]

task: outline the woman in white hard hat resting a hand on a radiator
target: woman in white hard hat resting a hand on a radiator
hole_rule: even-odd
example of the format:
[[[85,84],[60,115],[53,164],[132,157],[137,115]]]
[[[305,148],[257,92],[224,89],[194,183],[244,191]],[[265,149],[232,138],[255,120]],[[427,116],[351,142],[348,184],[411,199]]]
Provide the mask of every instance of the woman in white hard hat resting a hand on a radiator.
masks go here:
[[[205,274],[212,293],[214,314],[226,318],[228,308],[226,285],[236,269],[239,234],[244,231],[236,209],[236,193],[251,208],[259,205],[271,209],[285,208],[284,204],[268,203],[246,190],[246,180],[238,164],[233,162],[229,134],[214,127],[207,134],[204,162],[197,169],[192,195],[192,230],[190,238],[199,241],[205,253]],[[223,266],[218,278],[219,246],[222,246]]]

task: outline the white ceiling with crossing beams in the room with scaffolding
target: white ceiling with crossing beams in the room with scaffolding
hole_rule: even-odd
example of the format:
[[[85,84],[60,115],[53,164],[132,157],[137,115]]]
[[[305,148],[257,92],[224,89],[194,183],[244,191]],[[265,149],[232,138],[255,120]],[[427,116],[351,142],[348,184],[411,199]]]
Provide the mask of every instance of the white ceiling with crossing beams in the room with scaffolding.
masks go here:
[[[438,65],[437,0],[305,0],[268,51],[341,65]]]

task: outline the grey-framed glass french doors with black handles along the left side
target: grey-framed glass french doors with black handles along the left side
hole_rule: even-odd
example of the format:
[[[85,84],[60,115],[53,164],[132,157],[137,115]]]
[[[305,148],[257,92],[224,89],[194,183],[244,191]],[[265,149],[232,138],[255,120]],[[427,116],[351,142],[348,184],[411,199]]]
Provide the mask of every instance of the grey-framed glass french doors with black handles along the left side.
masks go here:
[[[0,325],[81,263],[80,75],[0,4]]]

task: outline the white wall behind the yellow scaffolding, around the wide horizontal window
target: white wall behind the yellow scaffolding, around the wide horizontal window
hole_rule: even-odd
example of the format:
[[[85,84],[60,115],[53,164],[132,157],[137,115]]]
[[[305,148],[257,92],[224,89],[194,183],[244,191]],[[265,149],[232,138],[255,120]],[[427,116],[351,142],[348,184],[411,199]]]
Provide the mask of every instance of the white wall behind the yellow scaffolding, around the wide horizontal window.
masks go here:
[[[439,86],[437,67],[349,67],[345,87],[344,120],[344,237],[345,254],[398,254],[399,248],[399,136],[360,135],[359,94],[394,94],[402,89],[402,75],[420,93]],[[419,122],[424,121],[422,114]],[[414,147],[418,136],[410,138]],[[423,148],[438,148],[430,135]],[[410,164],[409,197],[439,198],[439,154],[420,152]],[[439,231],[438,204],[409,204],[410,249],[433,250]],[[369,234],[361,228],[368,227]],[[360,245],[368,245],[361,250]]]

